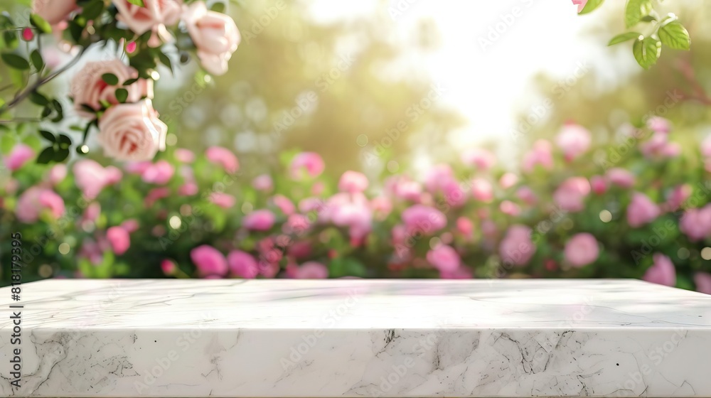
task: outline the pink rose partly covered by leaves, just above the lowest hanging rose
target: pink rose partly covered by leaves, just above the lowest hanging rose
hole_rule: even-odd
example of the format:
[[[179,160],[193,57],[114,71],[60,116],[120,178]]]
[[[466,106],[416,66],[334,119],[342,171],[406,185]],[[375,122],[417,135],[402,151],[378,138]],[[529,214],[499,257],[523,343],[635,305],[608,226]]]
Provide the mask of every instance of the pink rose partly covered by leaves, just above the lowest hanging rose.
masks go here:
[[[102,75],[111,73],[118,77],[117,85],[108,85]],[[109,104],[119,104],[116,99],[116,90],[124,88],[128,92],[126,102],[139,102],[142,98],[153,98],[153,80],[139,79],[131,85],[124,86],[123,82],[138,77],[138,71],[125,65],[119,59],[108,61],[89,62],[74,75],[70,92],[74,97],[74,109],[83,117],[93,117],[82,105],[87,105],[95,111],[102,109],[102,101]]]

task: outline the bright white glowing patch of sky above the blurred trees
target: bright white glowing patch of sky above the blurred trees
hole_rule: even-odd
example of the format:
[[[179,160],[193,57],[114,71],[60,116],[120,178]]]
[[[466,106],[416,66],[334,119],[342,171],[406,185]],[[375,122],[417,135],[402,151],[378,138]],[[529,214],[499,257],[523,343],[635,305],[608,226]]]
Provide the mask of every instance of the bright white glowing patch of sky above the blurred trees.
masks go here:
[[[515,112],[537,100],[529,85],[536,72],[565,81],[583,63],[596,70],[603,80],[599,83],[610,85],[633,71],[629,49],[625,58],[600,39],[582,34],[604,23],[601,13],[621,13],[621,5],[605,4],[578,16],[570,0],[392,0],[390,11],[397,10],[393,23],[403,48],[417,32],[418,21],[431,18],[437,24],[439,48],[424,57],[412,53],[404,64],[427,71],[445,88],[442,102],[469,119],[469,126],[453,135],[453,144],[472,146],[510,136]],[[377,0],[314,0],[311,14],[317,21],[333,22],[378,8],[383,4]],[[489,36],[491,29],[498,32]],[[619,61],[614,68],[611,56]]]

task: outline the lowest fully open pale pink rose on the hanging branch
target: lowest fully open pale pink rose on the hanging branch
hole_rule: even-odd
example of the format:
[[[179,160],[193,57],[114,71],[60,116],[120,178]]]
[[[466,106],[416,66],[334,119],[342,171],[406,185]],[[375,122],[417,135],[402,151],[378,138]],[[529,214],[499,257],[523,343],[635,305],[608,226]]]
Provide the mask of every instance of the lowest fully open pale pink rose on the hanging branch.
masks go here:
[[[168,127],[149,100],[109,107],[99,119],[97,141],[120,161],[145,161],[166,149]]]

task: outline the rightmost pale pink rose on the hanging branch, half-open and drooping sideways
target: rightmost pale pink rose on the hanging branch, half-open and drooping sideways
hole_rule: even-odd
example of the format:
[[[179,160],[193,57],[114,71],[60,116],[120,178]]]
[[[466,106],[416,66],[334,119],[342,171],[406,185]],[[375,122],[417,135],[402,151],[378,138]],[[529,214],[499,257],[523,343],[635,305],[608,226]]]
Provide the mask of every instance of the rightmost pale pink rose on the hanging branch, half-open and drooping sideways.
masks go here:
[[[188,33],[198,48],[203,68],[213,75],[224,75],[228,60],[240,44],[240,31],[232,18],[209,11],[202,1],[196,1],[183,14]]]

